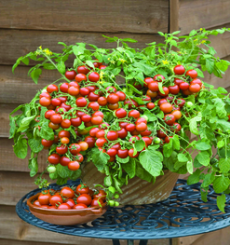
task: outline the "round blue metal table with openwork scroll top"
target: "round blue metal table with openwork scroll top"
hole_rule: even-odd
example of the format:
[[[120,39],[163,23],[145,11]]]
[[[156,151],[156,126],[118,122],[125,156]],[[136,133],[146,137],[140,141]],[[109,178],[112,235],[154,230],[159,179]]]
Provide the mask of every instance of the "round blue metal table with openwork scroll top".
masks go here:
[[[79,181],[68,182],[77,185]],[[52,184],[53,189],[60,186]],[[91,223],[75,226],[58,226],[46,223],[29,212],[27,198],[40,192],[31,191],[17,204],[18,216],[27,223],[53,232],[100,239],[112,239],[119,245],[119,239],[131,245],[140,240],[146,245],[150,239],[176,238],[198,235],[230,225],[230,196],[227,196],[226,213],[216,206],[217,194],[209,190],[208,202],[200,198],[200,184],[188,186],[185,180],[178,180],[170,197],[160,203],[148,205],[126,205],[110,207],[100,218]]]

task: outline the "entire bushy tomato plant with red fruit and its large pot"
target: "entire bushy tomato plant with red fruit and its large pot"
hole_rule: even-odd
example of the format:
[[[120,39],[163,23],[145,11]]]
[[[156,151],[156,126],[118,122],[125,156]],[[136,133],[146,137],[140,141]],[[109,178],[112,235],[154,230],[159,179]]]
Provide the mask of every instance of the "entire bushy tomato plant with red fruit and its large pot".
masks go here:
[[[104,36],[116,47],[59,43],[61,53],[39,47],[20,57],[13,71],[31,59],[37,64],[28,74],[35,83],[42,69],[57,69],[60,79],[10,114],[15,154],[25,158],[30,147],[35,176],[37,154],[48,149],[52,180],[81,177],[103,188],[111,206],[164,200],[179,174],[189,173],[189,184],[203,180],[203,200],[210,184],[223,193],[217,199],[223,211],[230,184],[230,99],[202,71],[222,77],[227,70],[229,62],[215,56],[208,40],[225,31],[193,30],[181,37],[159,32],[164,43],[142,50],[128,45],[133,39]],[[35,182],[48,183],[41,175]]]

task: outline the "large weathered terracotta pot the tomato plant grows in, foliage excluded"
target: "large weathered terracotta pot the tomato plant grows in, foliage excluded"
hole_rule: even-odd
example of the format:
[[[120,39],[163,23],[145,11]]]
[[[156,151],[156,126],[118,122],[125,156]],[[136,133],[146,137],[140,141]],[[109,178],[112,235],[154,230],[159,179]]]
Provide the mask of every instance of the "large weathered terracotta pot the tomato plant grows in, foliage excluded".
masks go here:
[[[104,185],[104,177],[105,175],[97,170],[93,162],[84,163],[81,179],[90,188],[94,188],[95,184]],[[163,201],[169,197],[178,177],[179,174],[169,170],[164,171],[164,175],[158,176],[154,184],[134,177],[129,180],[128,185],[121,188],[123,194],[120,195],[118,201],[122,205],[140,205]]]

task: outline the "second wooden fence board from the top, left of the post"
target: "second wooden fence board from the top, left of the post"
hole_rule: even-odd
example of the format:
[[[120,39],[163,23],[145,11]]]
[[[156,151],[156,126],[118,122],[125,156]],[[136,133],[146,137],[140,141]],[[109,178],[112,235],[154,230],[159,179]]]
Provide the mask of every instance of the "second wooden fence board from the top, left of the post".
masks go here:
[[[133,38],[138,43],[131,43],[130,46],[143,48],[146,43],[161,42],[163,39],[158,34],[128,34],[128,33],[103,33],[108,36],[117,36],[119,38]],[[62,45],[58,42],[64,42],[67,45],[76,42],[85,42],[95,44],[99,47],[116,47],[114,43],[105,43],[102,33],[87,33],[73,31],[33,31],[33,30],[10,30],[0,29],[0,64],[12,65],[20,56],[30,51],[35,51],[40,45],[43,48],[49,48],[53,52],[62,52]]]

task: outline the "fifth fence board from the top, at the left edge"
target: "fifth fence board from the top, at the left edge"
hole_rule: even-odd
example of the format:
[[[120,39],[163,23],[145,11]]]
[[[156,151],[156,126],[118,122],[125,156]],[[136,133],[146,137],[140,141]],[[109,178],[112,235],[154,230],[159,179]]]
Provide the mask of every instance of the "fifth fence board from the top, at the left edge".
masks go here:
[[[29,172],[28,163],[30,158],[30,150],[25,159],[16,157],[13,151],[13,140],[7,138],[0,138],[0,170],[2,171],[18,171]],[[41,173],[47,167],[48,151],[43,150],[38,155],[38,171]],[[28,173],[26,173],[28,174]]]

